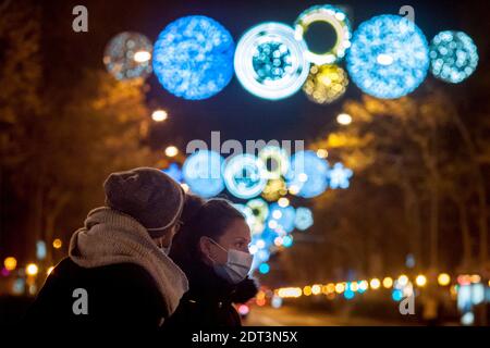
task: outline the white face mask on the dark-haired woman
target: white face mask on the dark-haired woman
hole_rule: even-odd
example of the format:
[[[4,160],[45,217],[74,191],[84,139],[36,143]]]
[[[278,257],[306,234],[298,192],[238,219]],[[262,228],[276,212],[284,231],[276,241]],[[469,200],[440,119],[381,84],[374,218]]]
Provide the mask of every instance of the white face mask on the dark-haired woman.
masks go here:
[[[248,272],[250,272],[254,257],[247,252],[235,249],[226,250],[213,239],[209,238],[209,240],[211,240],[215,245],[217,245],[228,253],[228,261],[225,264],[219,264],[215,260],[209,258],[213,262],[215,272],[232,284],[238,284],[240,282],[245,279]]]

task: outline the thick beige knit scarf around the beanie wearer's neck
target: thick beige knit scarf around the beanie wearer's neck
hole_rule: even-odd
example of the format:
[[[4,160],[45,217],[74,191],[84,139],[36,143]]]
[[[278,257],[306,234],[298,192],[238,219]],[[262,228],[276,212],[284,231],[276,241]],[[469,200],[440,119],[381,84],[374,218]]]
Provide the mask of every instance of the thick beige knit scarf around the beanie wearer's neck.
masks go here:
[[[86,269],[135,263],[155,279],[170,316],[187,291],[185,274],[152,241],[135,219],[107,207],[90,211],[70,241],[69,256]]]

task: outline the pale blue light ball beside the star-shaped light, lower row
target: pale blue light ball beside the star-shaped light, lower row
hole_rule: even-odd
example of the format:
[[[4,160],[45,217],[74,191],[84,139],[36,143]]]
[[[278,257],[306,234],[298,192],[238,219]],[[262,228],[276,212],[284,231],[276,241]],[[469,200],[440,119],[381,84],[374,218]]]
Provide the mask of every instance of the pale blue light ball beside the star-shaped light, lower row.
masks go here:
[[[291,159],[286,175],[287,186],[296,187],[296,195],[313,198],[321,195],[328,186],[329,164],[314,151],[299,151]],[[290,190],[291,191],[291,190]]]

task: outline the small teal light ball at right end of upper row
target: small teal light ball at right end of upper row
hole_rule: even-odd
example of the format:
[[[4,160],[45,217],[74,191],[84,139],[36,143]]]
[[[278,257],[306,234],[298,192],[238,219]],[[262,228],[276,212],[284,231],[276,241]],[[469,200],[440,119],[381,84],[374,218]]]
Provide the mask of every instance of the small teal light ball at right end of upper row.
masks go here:
[[[452,84],[469,77],[478,65],[477,47],[463,32],[441,32],[430,45],[431,73]]]

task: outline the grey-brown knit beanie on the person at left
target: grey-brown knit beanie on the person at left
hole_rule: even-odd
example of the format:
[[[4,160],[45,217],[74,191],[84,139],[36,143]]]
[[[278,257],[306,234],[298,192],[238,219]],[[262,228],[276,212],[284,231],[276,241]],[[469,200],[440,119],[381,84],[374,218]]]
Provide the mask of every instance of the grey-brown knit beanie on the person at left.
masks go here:
[[[151,238],[162,237],[179,220],[185,201],[183,188],[152,167],[112,173],[103,189],[106,204],[138,221]]]

